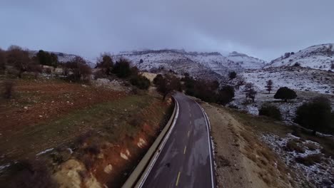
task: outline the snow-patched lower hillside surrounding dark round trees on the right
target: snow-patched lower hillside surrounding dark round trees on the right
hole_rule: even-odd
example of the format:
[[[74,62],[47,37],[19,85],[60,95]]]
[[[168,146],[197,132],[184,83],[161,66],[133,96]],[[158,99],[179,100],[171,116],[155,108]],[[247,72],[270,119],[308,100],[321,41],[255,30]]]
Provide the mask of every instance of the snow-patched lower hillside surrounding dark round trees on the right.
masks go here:
[[[334,73],[332,72],[301,67],[265,68],[240,73],[234,82],[237,80],[253,83],[258,93],[255,95],[254,103],[246,103],[246,95],[241,86],[236,90],[235,100],[231,105],[236,105],[252,115],[258,115],[258,109],[263,103],[271,103],[280,109],[283,120],[291,123],[298,106],[320,95],[330,99],[334,109]],[[273,90],[270,94],[265,90],[267,80],[273,80]],[[288,103],[274,99],[274,94],[280,87],[295,90],[298,97],[288,100]]]

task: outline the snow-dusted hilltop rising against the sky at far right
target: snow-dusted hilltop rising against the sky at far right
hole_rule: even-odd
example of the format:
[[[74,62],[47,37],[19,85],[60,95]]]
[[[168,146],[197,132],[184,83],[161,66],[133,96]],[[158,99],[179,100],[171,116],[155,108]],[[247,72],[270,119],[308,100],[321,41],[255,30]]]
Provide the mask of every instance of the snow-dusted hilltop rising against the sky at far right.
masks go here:
[[[330,70],[334,63],[334,48],[333,44],[321,44],[310,46],[296,53],[285,53],[280,58],[271,61],[265,67],[279,67],[279,66],[294,66],[300,65],[303,67]]]

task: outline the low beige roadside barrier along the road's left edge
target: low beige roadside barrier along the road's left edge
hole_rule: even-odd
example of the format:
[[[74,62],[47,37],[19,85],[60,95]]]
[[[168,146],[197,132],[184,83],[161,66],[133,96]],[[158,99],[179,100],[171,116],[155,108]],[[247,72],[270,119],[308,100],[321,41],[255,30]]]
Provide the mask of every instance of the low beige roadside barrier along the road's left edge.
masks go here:
[[[138,163],[136,168],[131,173],[130,177],[123,184],[122,188],[141,187],[141,183],[146,179],[148,172],[151,170],[156,158],[158,157],[163,145],[171,133],[172,125],[175,125],[175,120],[178,117],[178,102],[173,98],[174,110],[171,118],[168,120],[167,125],[163,127],[156,140],[148,149],[143,159]],[[167,136],[167,137],[166,137]]]

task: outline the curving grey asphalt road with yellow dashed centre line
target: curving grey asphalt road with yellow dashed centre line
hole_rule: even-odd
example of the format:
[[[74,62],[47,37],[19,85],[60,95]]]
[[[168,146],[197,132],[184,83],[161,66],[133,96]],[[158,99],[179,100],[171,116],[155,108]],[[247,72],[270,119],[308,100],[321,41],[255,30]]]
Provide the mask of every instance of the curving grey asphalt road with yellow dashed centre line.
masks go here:
[[[182,93],[179,113],[141,187],[215,187],[208,120],[200,105]]]

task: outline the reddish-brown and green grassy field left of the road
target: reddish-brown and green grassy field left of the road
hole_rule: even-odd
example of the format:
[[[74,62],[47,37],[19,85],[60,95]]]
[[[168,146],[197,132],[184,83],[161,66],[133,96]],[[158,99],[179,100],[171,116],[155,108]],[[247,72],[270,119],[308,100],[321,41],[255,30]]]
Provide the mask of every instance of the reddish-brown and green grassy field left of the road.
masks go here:
[[[0,100],[0,184],[24,171],[21,161],[39,158],[54,174],[71,159],[89,172],[89,158],[95,168],[114,162],[115,172],[93,176],[119,185],[168,119],[169,105],[158,95],[131,95],[56,79],[14,80],[13,98]],[[144,149],[136,146],[138,139],[145,140]],[[121,147],[133,152],[128,161],[101,157],[116,155]]]

